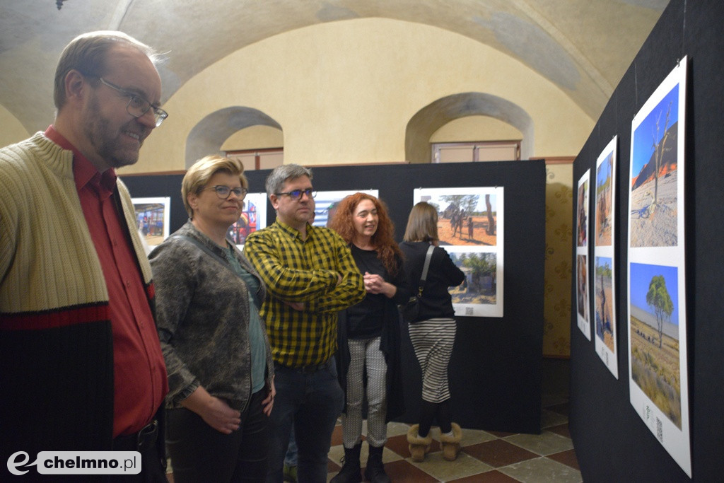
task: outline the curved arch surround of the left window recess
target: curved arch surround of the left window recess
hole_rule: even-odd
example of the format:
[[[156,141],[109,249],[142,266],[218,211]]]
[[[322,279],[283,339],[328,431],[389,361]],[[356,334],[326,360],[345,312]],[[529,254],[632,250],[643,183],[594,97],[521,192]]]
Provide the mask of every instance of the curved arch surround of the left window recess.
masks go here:
[[[227,138],[245,127],[263,125],[282,130],[277,121],[251,107],[233,106],[219,109],[196,124],[186,138],[185,168],[209,154],[221,154]]]

